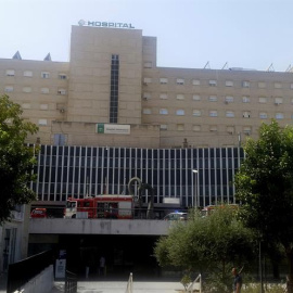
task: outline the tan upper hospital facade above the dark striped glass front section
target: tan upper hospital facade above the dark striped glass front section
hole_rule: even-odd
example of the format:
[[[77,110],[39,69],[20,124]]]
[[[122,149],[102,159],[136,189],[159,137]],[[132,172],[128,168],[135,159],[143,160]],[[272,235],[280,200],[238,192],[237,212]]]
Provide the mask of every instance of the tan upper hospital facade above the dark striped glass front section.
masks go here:
[[[292,73],[157,67],[131,28],[73,26],[68,63],[0,60],[0,93],[54,145],[229,148],[293,117]]]

